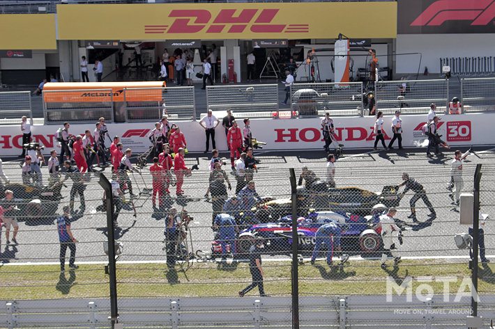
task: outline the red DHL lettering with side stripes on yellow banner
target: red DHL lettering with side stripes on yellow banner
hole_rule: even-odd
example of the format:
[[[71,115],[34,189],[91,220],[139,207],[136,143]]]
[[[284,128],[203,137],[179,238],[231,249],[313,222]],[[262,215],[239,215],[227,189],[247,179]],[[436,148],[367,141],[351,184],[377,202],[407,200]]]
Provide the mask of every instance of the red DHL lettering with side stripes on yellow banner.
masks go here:
[[[169,25],[145,25],[144,33],[243,33],[246,29],[253,33],[309,33],[310,24],[271,24],[279,9],[243,9],[236,15],[236,9],[222,9],[212,19],[211,12],[205,9],[172,10],[169,17],[174,22]]]

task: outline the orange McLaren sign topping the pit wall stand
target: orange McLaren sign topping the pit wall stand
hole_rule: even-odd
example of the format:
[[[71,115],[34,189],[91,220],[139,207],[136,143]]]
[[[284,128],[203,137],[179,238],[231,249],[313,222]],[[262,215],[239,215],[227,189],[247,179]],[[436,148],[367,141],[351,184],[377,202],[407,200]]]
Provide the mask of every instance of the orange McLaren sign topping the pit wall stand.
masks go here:
[[[160,102],[165,82],[72,82],[45,83],[45,103],[63,102]]]

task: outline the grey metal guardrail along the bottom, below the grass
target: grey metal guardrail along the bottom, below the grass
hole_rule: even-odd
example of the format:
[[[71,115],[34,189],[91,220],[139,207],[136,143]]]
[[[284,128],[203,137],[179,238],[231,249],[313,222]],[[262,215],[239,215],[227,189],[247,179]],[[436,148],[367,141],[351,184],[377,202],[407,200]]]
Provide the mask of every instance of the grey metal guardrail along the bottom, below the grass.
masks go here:
[[[478,315],[492,316],[494,295],[482,295]],[[304,326],[462,326],[470,312],[470,296],[459,302],[444,301],[443,295],[407,296],[303,296],[299,301]],[[453,298],[452,298],[453,299]],[[208,305],[208,306],[206,306]],[[119,323],[143,328],[204,328],[232,326],[291,328],[291,297],[257,298],[125,298],[119,300]],[[10,300],[0,314],[9,329],[28,327],[109,326],[108,299]],[[206,316],[206,314],[208,314]],[[416,328],[416,327],[413,327]]]

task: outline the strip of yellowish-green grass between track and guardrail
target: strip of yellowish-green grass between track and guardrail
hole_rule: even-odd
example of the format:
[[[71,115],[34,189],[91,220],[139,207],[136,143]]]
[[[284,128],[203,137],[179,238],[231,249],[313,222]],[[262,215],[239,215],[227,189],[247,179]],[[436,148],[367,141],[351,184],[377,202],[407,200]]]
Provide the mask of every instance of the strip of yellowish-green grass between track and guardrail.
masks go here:
[[[480,294],[495,293],[493,265],[479,270]],[[266,262],[264,281],[267,294],[289,296],[291,268],[289,262]],[[344,268],[330,270],[324,261],[316,266],[299,266],[300,294],[351,295],[386,294],[386,278],[393,277],[398,284],[406,276],[413,280],[413,291],[423,282],[417,279],[459,278],[450,282],[450,293],[455,294],[463,278],[469,278],[467,264],[439,260],[405,260],[387,271],[379,261],[351,262]],[[109,296],[109,276],[104,266],[83,264],[77,271],[60,273],[57,265],[1,266],[0,294],[11,299],[98,298]],[[118,264],[117,292],[120,297],[198,297],[236,296],[251,281],[247,263],[194,264],[187,272],[180,266],[169,270],[165,264]],[[428,282],[436,294],[443,293],[443,282]],[[255,289],[253,294],[257,294]]]

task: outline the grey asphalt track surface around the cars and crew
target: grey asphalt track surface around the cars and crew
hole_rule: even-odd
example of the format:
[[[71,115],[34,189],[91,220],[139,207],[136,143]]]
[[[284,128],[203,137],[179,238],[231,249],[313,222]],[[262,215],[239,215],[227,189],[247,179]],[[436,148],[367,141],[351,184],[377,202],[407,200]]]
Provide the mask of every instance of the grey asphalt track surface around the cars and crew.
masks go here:
[[[462,148],[463,152],[465,151]],[[492,147],[474,147],[475,153],[464,161],[464,191],[473,189],[473,173],[475,165],[482,163],[482,188],[481,201],[482,212],[495,214],[495,149]],[[383,151],[353,150],[344,151],[344,156],[337,160],[336,183],[337,187],[357,186],[369,191],[379,192],[384,185],[395,185],[402,182],[402,172],[409,172],[411,177],[425,186],[429,200],[436,210],[436,218],[432,225],[422,227],[411,223],[409,215],[409,199],[412,193],[406,194],[402,200],[396,218],[406,222],[408,228],[404,232],[404,245],[399,248],[399,255],[409,257],[462,257],[467,255],[467,250],[457,250],[453,236],[457,233],[467,232],[465,226],[459,225],[459,213],[456,207],[450,205],[446,185],[450,180],[450,161],[453,159],[454,150],[444,150],[443,157],[427,158],[425,150],[404,149]],[[273,152],[259,150],[256,157],[261,161],[259,173],[254,175],[257,183],[257,191],[260,195],[272,195],[275,198],[289,198],[289,168],[296,169],[296,175],[300,173],[302,166],[317,172],[319,177],[325,176],[326,154],[320,150],[291,152]],[[227,152],[221,152],[221,157],[228,157]],[[185,209],[195,217],[191,225],[195,250],[209,250],[213,238],[211,226],[211,203],[207,202],[203,195],[206,193],[208,182],[208,163],[210,154],[188,154],[186,166],[198,164],[200,170],[193,172],[192,177],[185,179],[183,190],[190,195]],[[2,158],[3,170],[13,182],[20,180],[20,159]],[[229,162],[227,160],[227,162]],[[227,163],[226,168],[230,168]],[[228,170],[230,171],[230,170]],[[44,181],[47,182],[47,168],[42,168]],[[148,167],[142,170],[142,177],[135,174],[132,177],[135,182],[133,188],[136,192],[143,188],[151,188],[151,176]],[[109,168],[105,170],[109,174]],[[108,175],[109,176],[109,175]],[[229,174],[234,194],[235,179]],[[63,188],[66,196],[59,206],[59,212],[63,204],[68,204],[68,188]],[[402,189],[401,189],[402,191]],[[172,190],[172,192],[174,192]],[[174,197],[175,193],[172,193]],[[106,241],[106,218],[104,214],[96,211],[101,204],[102,189],[93,178],[85,192],[86,212],[76,215],[72,230],[77,243],[77,262],[105,262],[103,243]],[[75,208],[78,207],[76,197]],[[116,229],[116,237],[123,243],[124,252],[121,257],[123,262],[164,261],[165,252],[162,216],[153,214],[151,200],[144,195],[135,200],[137,218],[134,211],[123,210],[119,216],[119,227]],[[175,203],[179,210],[182,207]],[[427,220],[428,209],[421,200],[416,204],[418,219]],[[495,216],[495,215],[494,215]],[[5,228],[3,228],[3,231]],[[12,234],[12,233],[11,233]],[[6,246],[5,235],[1,235],[0,261],[3,263],[28,263],[28,262],[58,262],[59,243],[54,218],[44,220],[22,220],[20,233],[17,236],[19,246]],[[492,235],[492,223],[487,221],[485,225],[485,244],[487,255],[494,255],[494,236]],[[357,255],[357,254],[356,254]],[[284,257],[273,255],[274,258]],[[493,259],[492,259],[493,260]]]

